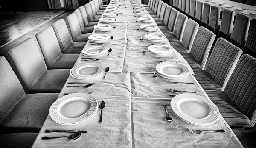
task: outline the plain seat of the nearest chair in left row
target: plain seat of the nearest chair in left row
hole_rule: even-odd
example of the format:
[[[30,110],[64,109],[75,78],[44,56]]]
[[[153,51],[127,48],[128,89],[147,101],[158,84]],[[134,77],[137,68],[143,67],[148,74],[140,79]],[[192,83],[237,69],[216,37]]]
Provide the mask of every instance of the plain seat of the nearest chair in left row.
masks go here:
[[[24,95],[3,120],[1,131],[39,132],[57,97],[58,93]]]

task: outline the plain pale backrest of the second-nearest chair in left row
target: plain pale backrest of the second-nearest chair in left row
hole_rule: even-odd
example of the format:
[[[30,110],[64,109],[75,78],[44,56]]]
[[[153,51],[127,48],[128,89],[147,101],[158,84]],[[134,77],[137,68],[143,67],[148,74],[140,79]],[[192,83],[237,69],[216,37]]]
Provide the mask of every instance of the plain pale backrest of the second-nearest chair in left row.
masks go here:
[[[47,71],[34,39],[26,39],[8,51],[14,62],[20,78],[29,90]]]

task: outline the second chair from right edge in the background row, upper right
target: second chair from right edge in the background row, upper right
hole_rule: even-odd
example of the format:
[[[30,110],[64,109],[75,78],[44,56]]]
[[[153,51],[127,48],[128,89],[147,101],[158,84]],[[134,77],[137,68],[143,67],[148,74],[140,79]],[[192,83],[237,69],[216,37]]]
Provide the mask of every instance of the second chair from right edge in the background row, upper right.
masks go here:
[[[235,25],[230,37],[230,42],[239,48],[244,46],[246,42],[250,26],[250,17],[237,13]]]

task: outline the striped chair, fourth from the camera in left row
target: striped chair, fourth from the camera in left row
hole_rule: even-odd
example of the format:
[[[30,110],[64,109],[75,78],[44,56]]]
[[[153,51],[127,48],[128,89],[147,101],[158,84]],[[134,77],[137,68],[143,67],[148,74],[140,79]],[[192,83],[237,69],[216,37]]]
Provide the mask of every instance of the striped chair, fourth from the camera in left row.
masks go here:
[[[52,28],[57,36],[62,53],[81,53],[86,42],[73,42],[64,19],[60,19],[52,24]]]

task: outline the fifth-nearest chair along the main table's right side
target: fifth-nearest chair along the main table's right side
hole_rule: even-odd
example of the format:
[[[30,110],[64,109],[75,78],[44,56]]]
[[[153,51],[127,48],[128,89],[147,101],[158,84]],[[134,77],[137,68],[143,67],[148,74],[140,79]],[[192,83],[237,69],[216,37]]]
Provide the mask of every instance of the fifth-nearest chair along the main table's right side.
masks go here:
[[[181,42],[183,33],[185,30],[186,22],[188,17],[185,14],[179,13],[177,20],[175,22],[174,31],[171,32],[163,32],[169,42]]]

